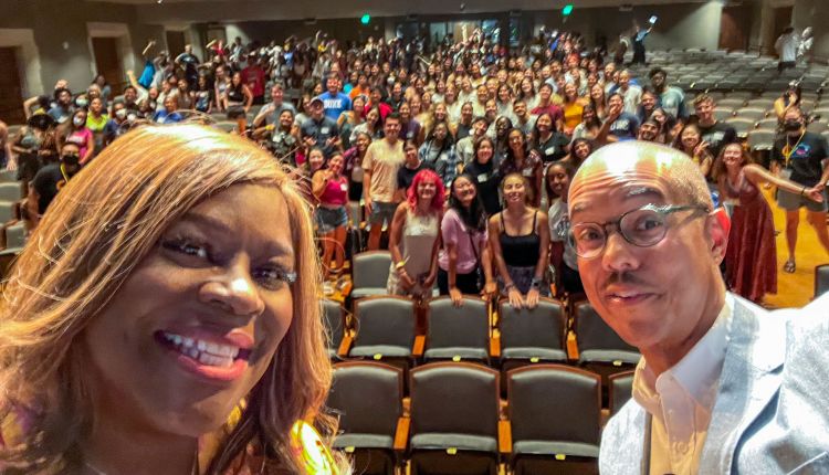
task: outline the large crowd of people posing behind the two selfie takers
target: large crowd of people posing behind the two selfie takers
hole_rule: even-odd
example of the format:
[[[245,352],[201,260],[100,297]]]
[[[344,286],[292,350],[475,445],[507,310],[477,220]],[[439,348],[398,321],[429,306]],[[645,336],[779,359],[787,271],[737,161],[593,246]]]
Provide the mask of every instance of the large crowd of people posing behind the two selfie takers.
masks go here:
[[[580,294],[569,180],[595,150],[626,140],[681,150],[734,210],[723,271],[739,295],[762,302],[776,292],[775,230],[760,182],[779,189],[787,210],[784,271],[795,271],[800,208],[829,252],[829,147],[805,130],[794,89],[775,106],[781,135],[769,172],[716,119],[714,97],[700,94],[690,107],[664,70],[636,77],[577,33],[543,31],[512,50],[481,31],[434,48],[399,39],[340,45],[322,33],[280,45],[235,39],[208,44],[204,62],[190,45],[176,57],[154,49],[118,96],[98,76],[81,94],[60,81],[27,101],[29,123],[9,138],[8,168],[33,184],[32,222],[62,183],[136,124],[227,114],[238,134],[293,167],[315,207],[330,281],[343,273],[349,221],[364,219],[351,215],[348,202],[357,201],[368,250],[380,249],[388,231],[390,293],[424,296],[437,284],[459,303],[462,294],[500,292],[516,306],[550,291]],[[290,91],[300,92],[296,104]]]

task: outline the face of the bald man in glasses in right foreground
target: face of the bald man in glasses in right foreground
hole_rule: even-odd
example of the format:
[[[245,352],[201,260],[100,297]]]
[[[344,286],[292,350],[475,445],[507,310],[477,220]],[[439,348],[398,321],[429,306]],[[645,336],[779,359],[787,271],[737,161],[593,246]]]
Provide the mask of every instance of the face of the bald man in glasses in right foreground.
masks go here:
[[[689,204],[675,198],[654,161],[612,169],[590,165],[570,187],[574,226],[616,222],[647,204]],[[722,254],[713,244],[712,221],[716,219],[692,211],[673,213],[664,239],[650,247],[630,244],[616,226],[607,226],[610,234],[599,254],[578,257],[587,297],[625,341],[640,349],[660,348],[693,337],[703,314],[700,303],[714,298],[712,289],[721,278],[716,266]]]

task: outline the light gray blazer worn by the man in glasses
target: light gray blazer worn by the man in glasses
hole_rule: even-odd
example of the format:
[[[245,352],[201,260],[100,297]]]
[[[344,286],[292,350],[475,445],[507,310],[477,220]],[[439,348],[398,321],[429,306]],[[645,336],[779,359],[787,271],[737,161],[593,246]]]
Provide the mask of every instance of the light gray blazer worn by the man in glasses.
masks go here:
[[[779,312],[734,296],[732,318],[699,473],[829,474],[829,294]],[[644,424],[633,399],[610,419],[602,475],[643,473]]]

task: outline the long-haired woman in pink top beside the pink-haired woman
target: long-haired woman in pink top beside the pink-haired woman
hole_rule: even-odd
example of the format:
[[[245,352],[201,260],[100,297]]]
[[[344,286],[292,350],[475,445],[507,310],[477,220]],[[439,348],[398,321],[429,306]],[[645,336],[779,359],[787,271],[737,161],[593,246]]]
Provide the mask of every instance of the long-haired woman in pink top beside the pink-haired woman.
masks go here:
[[[495,294],[486,234],[486,212],[478,197],[474,178],[459,175],[452,181],[449,210],[440,224],[442,249],[438,255],[438,291],[455,306],[463,295]]]

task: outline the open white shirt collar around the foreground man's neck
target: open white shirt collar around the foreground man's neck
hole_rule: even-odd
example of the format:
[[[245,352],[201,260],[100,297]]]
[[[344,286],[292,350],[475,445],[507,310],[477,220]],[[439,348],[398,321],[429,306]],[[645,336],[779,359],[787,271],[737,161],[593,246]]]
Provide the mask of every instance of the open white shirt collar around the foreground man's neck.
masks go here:
[[[734,308],[734,297],[725,294],[725,304],[714,324],[676,365],[655,377],[642,358],[633,376],[633,399],[651,414],[661,415],[660,388],[673,379],[699,405],[711,409],[725,361],[725,350]]]

